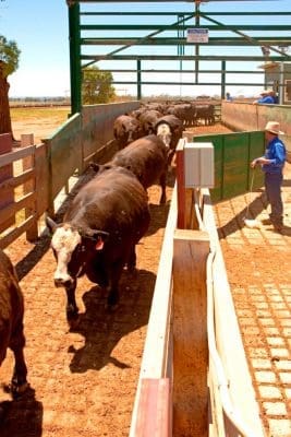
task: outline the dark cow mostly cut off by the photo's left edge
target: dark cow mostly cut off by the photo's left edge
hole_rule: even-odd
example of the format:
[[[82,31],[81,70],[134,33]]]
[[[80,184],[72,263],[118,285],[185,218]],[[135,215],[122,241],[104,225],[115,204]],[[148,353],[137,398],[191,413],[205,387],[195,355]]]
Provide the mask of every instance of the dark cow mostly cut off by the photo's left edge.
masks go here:
[[[16,272],[9,257],[0,249],[0,365],[7,356],[7,349],[11,349],[15,361],[11,380],[13,397],[22,394],[28,388],[23,352],[23,316],[24,298]]]

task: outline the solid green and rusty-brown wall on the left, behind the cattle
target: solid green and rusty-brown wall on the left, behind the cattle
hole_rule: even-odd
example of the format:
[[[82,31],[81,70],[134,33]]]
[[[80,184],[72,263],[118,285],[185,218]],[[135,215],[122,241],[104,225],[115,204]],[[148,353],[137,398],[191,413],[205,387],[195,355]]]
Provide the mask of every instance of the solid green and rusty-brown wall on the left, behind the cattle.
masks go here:
[[[49,162],[49,206],[54,215],[54,199],[68,185],[73,175],[81,175],[89,161],[104,163],[114,153],[113,121],[117,115],[133,110],[137,102],[84,107],[81,114],[74,114],[50,138],[44,139]]]

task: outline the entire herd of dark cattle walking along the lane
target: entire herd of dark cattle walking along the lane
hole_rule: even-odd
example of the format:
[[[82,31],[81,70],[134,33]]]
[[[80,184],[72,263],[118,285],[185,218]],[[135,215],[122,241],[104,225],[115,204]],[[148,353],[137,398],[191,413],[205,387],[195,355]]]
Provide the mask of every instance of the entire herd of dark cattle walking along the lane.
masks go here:
[[[149,226],[146,189],[159,182],[160,203],[166,202],[167,172],[175,146],[185,126],[201,117],[213,123],[213,105],[149,104],[119,116],[113,126],[118,152],[106,164],[92,163],[96,174],[75,196],[63,223],[47,217],[57,261],[54,285],[66,292],[69,323],[78,316],[75,290],[77,277],[84,274],[107,288],[109,308],[117,306],[122,271],[135,269],[135,246]],[[23,316],[23,294],[14,268],[0,250],[0,366],[10,347],[15,362],[13,397],[28,387]]]

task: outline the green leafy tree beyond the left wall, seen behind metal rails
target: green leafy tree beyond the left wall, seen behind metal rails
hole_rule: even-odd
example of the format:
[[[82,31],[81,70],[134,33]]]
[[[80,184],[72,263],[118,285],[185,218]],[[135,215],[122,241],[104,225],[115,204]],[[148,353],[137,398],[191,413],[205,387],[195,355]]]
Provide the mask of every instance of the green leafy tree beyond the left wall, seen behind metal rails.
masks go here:
[[[108,103],[116,98],[116,90],[112,86],[112,73],[99,71],[98,67],[89,67],[83,71],[82,103],[95,105]]]

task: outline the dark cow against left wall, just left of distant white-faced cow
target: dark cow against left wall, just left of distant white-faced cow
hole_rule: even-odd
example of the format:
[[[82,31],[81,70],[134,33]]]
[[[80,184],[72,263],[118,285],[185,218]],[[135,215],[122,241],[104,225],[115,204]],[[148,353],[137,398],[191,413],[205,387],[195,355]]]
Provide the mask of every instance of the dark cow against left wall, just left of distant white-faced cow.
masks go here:
[[[120,150],[142,135],[141,123],[132,116],[121,115],[113,122],[113,135]]]

